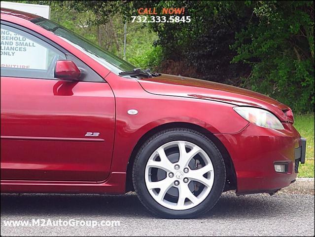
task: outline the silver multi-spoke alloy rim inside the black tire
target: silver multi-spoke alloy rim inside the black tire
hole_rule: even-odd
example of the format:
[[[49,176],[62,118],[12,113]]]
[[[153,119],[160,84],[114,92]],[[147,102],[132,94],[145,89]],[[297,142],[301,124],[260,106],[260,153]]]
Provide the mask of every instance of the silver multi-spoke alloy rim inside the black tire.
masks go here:
[[[151,197],[172,210],[186,210],[208,197],[214,181],[212,162],[199,146],[173,141],[156,149],[145,167]]]

